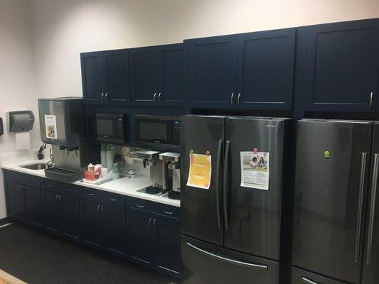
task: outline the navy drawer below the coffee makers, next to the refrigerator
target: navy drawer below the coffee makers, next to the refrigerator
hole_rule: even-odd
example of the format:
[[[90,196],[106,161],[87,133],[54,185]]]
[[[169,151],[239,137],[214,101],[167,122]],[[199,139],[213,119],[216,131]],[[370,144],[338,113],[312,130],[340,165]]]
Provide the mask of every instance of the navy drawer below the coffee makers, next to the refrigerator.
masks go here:
[[[149,200],[142,200],[139,198],[129,197],[129,208],[149,211],[155,214],[161,214],[166,217],[179,218],[179,208],[161,204],[158,202],[152,202]]]

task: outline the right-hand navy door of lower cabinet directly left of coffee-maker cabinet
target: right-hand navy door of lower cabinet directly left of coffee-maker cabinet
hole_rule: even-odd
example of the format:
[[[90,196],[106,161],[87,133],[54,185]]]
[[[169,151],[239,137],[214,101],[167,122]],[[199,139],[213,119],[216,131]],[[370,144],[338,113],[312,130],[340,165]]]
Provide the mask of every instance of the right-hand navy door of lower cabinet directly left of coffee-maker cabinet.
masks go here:
[[[124,207],[103,206],[104,247],[119,255],[127,253],[127,220]]]

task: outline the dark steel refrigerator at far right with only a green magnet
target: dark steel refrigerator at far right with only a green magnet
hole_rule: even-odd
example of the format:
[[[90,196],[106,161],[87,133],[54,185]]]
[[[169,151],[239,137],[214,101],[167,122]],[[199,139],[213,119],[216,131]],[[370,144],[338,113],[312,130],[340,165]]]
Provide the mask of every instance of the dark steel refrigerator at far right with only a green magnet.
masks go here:
[[[299,121],[293,284],[379,283],[378,155],[374,121]]]

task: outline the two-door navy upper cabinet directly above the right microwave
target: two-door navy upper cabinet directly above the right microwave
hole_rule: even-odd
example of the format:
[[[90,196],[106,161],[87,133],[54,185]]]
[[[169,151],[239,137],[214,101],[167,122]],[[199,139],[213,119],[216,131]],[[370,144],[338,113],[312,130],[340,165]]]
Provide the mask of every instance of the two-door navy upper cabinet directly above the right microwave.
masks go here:
[[[183,104],[183,45],[159,45],[129,50],[132,105]]]

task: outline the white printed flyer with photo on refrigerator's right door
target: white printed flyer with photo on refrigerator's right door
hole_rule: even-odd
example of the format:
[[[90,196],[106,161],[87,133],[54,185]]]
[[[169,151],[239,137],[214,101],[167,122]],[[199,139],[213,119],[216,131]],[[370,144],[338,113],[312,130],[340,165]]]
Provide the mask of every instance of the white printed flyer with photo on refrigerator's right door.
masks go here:
[[[269,153],[241,152],[241,186],[269,190]]]

